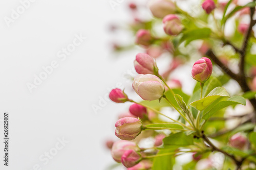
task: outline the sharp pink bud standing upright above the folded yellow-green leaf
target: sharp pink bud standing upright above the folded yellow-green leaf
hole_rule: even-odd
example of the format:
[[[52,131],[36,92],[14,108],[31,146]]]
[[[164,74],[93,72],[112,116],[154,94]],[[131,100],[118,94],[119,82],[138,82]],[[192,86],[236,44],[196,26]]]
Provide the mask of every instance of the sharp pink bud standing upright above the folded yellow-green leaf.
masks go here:
[[[210,59],[203,57],[195,62],[192,68],[192,77],[198,82],[205,82],[212,73],[212,63]]]

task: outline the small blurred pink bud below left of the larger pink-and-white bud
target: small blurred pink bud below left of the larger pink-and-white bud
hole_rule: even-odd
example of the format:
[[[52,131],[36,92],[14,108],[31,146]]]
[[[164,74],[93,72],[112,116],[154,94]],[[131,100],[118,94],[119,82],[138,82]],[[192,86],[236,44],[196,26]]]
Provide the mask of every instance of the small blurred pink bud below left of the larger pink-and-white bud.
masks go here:
[[[150,31],[140,29],[136,33],[136,43],[144,46],[148,46],[152,43],[154,38],[151,36]]]

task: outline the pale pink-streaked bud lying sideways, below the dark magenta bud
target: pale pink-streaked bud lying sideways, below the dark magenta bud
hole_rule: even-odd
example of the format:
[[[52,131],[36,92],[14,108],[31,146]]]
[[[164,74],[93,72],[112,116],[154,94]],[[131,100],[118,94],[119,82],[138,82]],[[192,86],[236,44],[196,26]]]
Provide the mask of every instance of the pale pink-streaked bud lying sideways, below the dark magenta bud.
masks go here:
[[[142,123],[133,117],[124,117],[116,122],[115,135],[123,140],[132,140],[142,131]]]

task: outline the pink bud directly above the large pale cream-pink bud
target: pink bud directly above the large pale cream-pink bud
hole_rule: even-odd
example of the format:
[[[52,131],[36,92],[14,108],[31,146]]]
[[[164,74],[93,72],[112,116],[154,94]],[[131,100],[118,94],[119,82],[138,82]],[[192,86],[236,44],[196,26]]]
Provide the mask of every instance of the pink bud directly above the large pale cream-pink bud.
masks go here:
[[[138,74],[154,74],[154,67],[156,68],[156,62],[151,56],[144,53],[139,53],[136,55],[134,67]]]

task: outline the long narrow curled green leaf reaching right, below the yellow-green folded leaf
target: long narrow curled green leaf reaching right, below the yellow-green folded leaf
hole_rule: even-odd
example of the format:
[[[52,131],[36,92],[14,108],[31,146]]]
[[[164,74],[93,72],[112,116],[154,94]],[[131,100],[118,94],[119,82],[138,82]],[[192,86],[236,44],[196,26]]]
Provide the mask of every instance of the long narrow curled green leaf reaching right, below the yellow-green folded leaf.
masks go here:
[[[245,106],[246,100],[242,96],[233,96],[233,97],[229,98],[228,100],[221,101],[218,104],[216,104],[214,107],[212,107],[211,110],[206,112],[202,118],[207,120],[209,117],[214,115],[218,110],[221,110],[225,107],[228,107],[230,105],[235,105],[235,104],[242,104]]]

